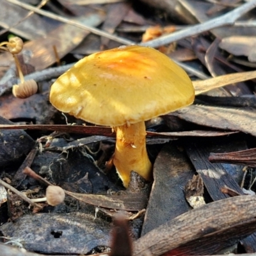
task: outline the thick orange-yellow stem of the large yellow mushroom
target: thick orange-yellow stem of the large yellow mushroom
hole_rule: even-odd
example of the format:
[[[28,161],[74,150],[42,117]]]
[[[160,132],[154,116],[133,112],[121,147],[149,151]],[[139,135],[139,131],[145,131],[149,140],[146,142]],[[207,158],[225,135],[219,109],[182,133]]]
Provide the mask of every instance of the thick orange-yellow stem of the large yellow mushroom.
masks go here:
[[[152,163],[146,148],[146,129],[144,122],[114,127],[116,148],[113,162],[125,188],[128,187],[131,171],[144,179],[152,179]]]

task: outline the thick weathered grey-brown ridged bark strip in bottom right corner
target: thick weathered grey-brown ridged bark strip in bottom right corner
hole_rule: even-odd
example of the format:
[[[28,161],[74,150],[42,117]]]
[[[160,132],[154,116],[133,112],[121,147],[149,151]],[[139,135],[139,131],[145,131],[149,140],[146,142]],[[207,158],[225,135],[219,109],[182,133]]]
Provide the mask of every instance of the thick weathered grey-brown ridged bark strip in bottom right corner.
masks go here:
[[[255,207],[256,196],[246,195],[193,209],[135,241],[133,255],[214,254],[255,232]]]

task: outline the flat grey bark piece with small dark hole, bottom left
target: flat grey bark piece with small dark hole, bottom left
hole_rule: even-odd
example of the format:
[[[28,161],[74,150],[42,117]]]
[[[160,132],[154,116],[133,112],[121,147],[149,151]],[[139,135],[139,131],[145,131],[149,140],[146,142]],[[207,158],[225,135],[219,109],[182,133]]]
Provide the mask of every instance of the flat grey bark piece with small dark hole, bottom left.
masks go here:
[[[19,237],[26,250],[45,254],[86,254],[110,241],[109,223],[81,212],[27,214],[0,230],[3,236]]]

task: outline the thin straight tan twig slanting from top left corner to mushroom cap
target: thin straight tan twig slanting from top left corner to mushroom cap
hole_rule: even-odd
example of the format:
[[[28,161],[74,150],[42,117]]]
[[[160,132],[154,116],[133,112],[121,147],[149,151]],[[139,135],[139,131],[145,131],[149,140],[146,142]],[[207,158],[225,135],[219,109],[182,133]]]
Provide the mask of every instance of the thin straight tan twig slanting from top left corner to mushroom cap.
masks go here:
[[[34,6],[31,6],[30,4],[21,3],[20,1],[17,1],[17,0],[6,0],[6,1],[8,1],[9,3],[16,4],[16,5],[22,7],[26,10],[30,10],[30,11],[33,11],[33,12],[38,13],[40,15],[43,15],[45,17],[49,17],[49,18],[54,19],[54,20],[59,20],[61,22],[65,22],[67,24],[76,26],[77,28],[85,29],[87,31],[92,32],[95,35],[105,36],[106,38],[109,38],[111,40],[119,42],[120,44],[124,44],[124,45],[134,44],[134,42],[132,42],[130,40],[127,40],[125,38],[122,38],[120,36],[111,35],[111,34],[105,32],[105,31],[101,31],[100,29],[93,28],[91,26],[81,24],[80,22],[77,22],[76,20],[68,19],[68,18],[65,18],[65,17],[61,17],[60,15],[56,15],[54,13],[50,13],[50,12],[46,12],[44,10],[40,10],[40,9],[34,7]]]

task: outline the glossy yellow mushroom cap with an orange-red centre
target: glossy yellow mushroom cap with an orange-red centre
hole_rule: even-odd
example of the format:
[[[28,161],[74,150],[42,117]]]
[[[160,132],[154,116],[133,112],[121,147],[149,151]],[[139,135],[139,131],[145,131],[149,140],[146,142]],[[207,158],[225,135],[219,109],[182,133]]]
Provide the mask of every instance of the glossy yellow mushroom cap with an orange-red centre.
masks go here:
[[[58,110],[97,125],[135,124],[193,103],[186,72],[151,47],[121,46],[78,61],[51,86]]]

